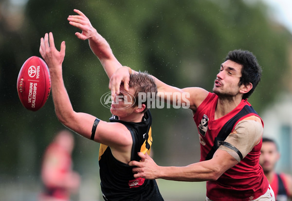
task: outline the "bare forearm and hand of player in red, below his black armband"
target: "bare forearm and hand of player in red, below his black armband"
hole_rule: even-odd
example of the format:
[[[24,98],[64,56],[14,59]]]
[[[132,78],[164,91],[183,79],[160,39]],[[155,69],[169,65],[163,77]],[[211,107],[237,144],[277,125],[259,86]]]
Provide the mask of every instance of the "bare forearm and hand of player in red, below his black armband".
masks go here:
[[[165,179],[182,182],[216,181],[226,170],[238,162],[223,150],[217,150],[211,160],[187,166],[159,166],[147,154],[139,152],[141,162],[131,161],[134,177],[145,179]]]

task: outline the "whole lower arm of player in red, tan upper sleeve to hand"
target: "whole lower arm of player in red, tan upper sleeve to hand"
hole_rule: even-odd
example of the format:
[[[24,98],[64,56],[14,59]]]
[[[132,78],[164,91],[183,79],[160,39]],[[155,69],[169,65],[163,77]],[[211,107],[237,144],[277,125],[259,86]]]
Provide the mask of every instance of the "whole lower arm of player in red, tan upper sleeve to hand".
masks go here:
[[[185,182],[216,181],[261,141],[262,133],[260,118],[250,116],[237,123],[210,160],[184,167],[163,167],[155,164],[149,156],[139,153],[141,162],[131,161],[129,165],[137,166],[133,168],[134,177]]]

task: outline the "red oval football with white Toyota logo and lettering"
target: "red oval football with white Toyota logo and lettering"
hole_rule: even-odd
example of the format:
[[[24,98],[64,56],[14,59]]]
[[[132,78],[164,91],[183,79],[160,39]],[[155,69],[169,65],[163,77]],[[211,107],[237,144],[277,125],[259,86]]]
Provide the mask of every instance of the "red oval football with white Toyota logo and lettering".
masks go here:
[[[46,103],[51,91],[51,77],[47,64],[38,56],[28,58],[17,79],[17,91],[27,110],[37,111]]]

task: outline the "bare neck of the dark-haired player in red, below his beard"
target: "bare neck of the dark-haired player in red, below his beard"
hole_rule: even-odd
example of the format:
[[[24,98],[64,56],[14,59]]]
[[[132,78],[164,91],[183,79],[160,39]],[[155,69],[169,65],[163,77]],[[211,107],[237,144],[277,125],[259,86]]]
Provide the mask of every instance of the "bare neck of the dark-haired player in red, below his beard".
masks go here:
[[[241,100],[241,97],[219,97],[215,110],[215,119],[219,119],[234,110]]]

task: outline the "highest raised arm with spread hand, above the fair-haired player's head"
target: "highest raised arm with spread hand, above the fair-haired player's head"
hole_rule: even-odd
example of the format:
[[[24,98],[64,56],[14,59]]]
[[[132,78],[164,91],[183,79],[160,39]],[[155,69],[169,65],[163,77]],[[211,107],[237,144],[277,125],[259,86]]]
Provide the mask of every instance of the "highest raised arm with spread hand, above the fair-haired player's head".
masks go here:
[[[81,11],[74,9],[74,12],[78,15],[70,15],[68,20],[71,25],[82,31],[82,33],[76,32],[76,37],[81,40],[89,40],[92,52],[99,58],[104,70],[110,78],[122,65],[113,55],[106,39],[92,27],[90,20]]]

